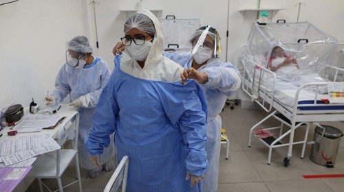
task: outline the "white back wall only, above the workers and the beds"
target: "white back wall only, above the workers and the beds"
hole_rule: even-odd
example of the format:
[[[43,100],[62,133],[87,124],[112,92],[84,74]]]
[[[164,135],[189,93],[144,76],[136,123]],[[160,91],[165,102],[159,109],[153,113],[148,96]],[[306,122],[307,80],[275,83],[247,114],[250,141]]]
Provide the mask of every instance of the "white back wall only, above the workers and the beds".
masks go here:
[[[227,8],[229,1],[229,44],[226,50],[226,29],[227,29]],[[344,43],[344,33],[341,33],[343,27],[338,26],[338,22],[343,21],[344,1],[330,0],[261,0],[261,8],[283,8],[277,13],[272,21],[277,19],[286,19],[288,22],[297,21],[298,7],[295,5],[299,2],[305,3],[301,8],[299,21],[310,21],[317,27],[324,29],[328,34],[335,36]],[[112,67],[111,49],[114,43],[118,42],[123,36],[122,24],[127,19],[127,14],[120,10],[135,10],[139,0],[131,1],[98,1],[96,5],[98,38],[100,49],[98,55],[103,57]],[[235,62],[237,50],[245,45],[246,39],[250,32],[252,22],[257,18],[256,13],[242,16],[239,13],[243,8],[257,8],[258,0],[175,0],[175,1],[158,1],[143,0],[142,7],[153,10],[162,10],[158,16],[164,17],[166,14],[174,14],[179,19],[201,19],[202,25],[212,25],[219,30],[222,35],[222,56],[225,60],[226,51],[228,51],[228,60]],[[91,6],[89,5],[89,8]],[[327,11],[323,11],[323,8]],[[323,13],[323,14],[314,14]],[[89,9],[89,16],[92,17],[93,10]],[[318,16],[319,15],[319,16]],[[94,38],[94,21],[90,19],[92,38]],[[338,27],[333,27],[338,26]],[[94,40],[95,42],[95,40]]]

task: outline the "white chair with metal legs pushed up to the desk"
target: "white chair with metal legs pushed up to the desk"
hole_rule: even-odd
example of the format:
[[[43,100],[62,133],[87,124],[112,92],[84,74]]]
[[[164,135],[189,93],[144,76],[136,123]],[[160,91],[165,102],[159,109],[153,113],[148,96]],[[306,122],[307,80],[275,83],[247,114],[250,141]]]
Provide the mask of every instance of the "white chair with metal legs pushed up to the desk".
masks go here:
[[[35,166],[32,167],[30,173],[31,176],[37,178],[39,181],[39,190],[43,192],[43,186],[47,188],[48,191],[52,192],[47,185],[42,182],[42,178],[56,178],[58,183],[58,190],[63,192],[63,188],[68,187],[76,182],[78,182],[79,191],[83,191],[81,187],[81,178],[79,170],[78,161],[78,125],[79,125],[79,114],[75,112],[69,118],[65,119],[63,124],[63,131],[56,139],[59,145],[63,145],[67,140],[72,140],[73,149],[58,149],[56,152],[50,152],[47,154],[42,154],[37,158],[34,163]],[[75,160],[76,175],[78,177],[72,183],[62,186],[61,177],[68,165]],[[54,191],[55,192],[55,191]]]

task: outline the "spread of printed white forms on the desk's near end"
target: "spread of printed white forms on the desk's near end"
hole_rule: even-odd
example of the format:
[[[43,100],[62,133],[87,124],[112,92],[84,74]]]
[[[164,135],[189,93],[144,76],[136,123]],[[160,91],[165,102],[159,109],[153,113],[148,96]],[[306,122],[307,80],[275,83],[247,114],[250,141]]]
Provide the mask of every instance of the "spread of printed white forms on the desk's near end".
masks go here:
[[[0,163],[9,166],[57,149],[61,149],[60,145],[49,135],[23,136],[17,140],[0,141]],[[28,165],[30,161],[24,164]]]

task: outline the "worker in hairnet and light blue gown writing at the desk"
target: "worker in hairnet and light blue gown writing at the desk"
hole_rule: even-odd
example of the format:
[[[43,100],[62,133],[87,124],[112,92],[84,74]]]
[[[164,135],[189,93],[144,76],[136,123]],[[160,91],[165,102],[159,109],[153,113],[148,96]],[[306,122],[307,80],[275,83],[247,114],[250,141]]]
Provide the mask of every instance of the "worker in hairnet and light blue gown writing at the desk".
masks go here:
[[[85,36],[76,36],[67,43],[66,64],[58,71],[55,90],[45,97],[48,106],[56,106],[67,95],[69,106],[78,110],[80,115],[78,131],[78,156],[80,167],[89,170],[89,176],[95,178],[100,171],[110,171],[114,167],[114,143],[105,149],[100,156],[100,165],[94,167],[89,160],[85,139],[92,126],[92,117],[100,93],[110,77],[107,63],[96,56],[92,56],[92,47]]]

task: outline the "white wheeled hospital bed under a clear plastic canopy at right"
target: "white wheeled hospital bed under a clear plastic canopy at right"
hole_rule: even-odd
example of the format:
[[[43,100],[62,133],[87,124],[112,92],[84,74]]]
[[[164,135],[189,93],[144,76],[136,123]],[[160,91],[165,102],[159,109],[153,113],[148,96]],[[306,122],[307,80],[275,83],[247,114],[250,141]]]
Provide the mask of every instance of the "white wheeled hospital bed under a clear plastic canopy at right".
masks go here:
[[[290,164],[293,145],[303,144],[303,158],[311,123],[321,126],[321,121],[343,121],[344,104],[327,104],[327,85],[344,82],[344,70],[329,64],[331,53],[337,44],[335,38],[308,22],[284,21],[252,25],[248,44],[242,49],[239,57],[242,88],[252,102],[256,102],[270,114],[250,129],[248,146],[251,145],[253,131],[260,128],[265,121],[275,118],[281,122],[277,127],[264,129],[279,130],[278,136],[267,139],[257,137],[269,148],[268,165],[272,149],[276,147],[288,147],[288,154],[283,159],[286,167]],[[284,51],[297,58],[299,71],[277,75],[268,69],[271,50],[276,46],[282,47]],[[288,78],[294,73],[305,78],[314,77],[316,74],[314,79],[319,81],[297,84]],[[285,127],[289,129],[283,132]],[[305,128],[305,135],[301,141],[294,141],[295,130],[299,128]],[[283,143],[283,139],[287,139],[288,142]]]

